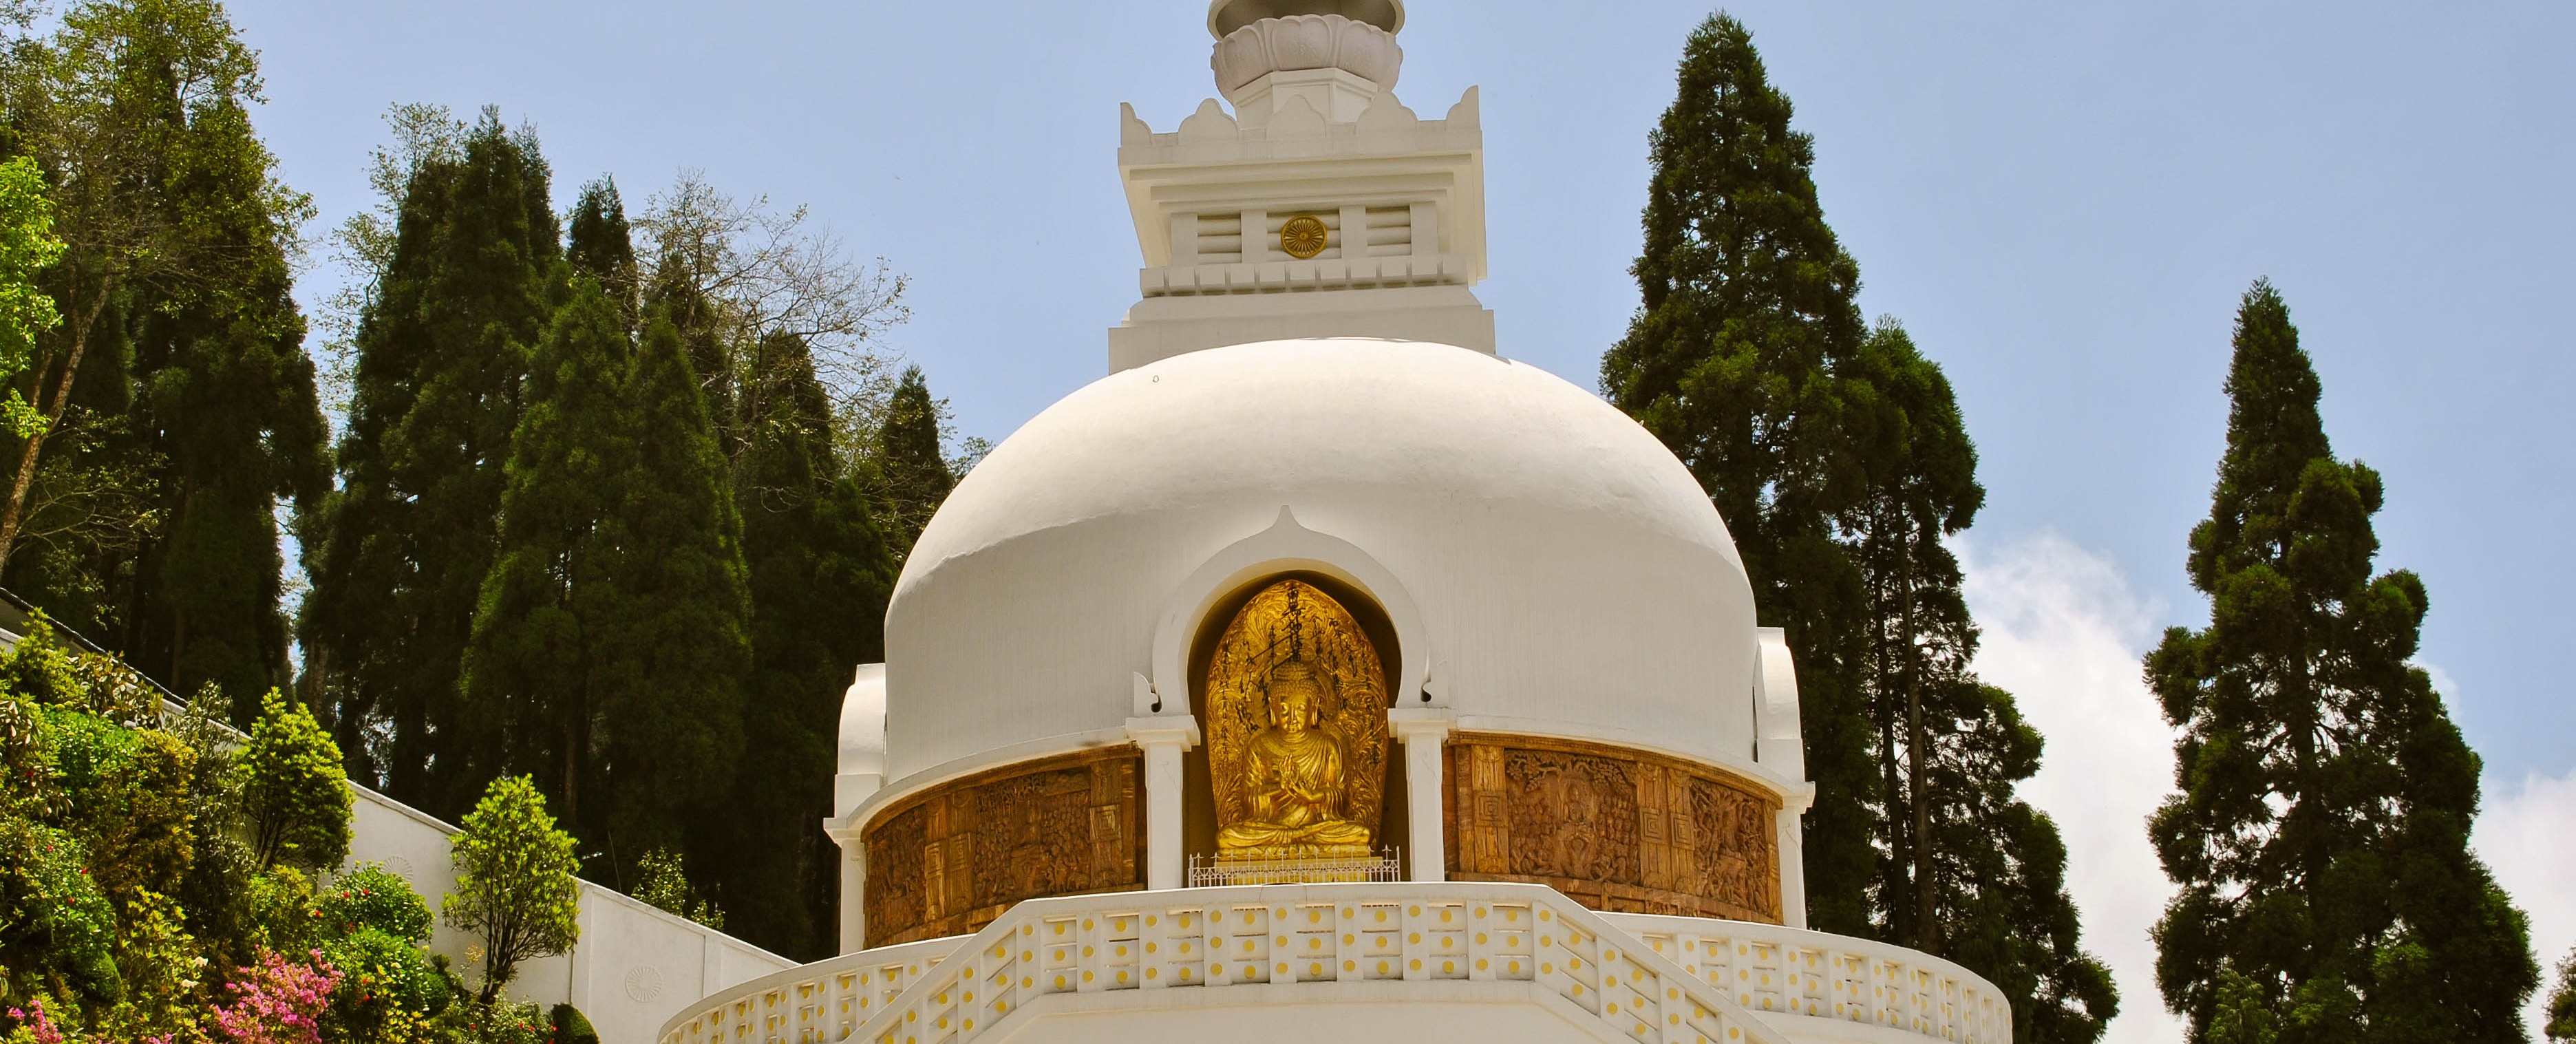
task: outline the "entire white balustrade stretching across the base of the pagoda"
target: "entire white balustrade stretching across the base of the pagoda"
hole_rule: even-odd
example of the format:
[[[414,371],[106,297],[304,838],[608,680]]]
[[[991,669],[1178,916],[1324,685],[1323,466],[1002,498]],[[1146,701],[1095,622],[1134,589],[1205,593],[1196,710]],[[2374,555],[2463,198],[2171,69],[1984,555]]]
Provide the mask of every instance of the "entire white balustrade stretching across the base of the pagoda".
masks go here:
[[[1314,1000],[1329,1000],[1334,982],[1443,980],[1530,982],[1651,1044],[1783,1044],[1775,1021],[1834,1036],[1806,1018],[2012,1041],[1994,985],[1904,946],[1605,915],[1538,884],[1448,882],[1030,900],[974,938],[842,954],[721,990],[665,1023],[659,1044],[966,1044],[1048,995],[1265,985],[1273,1003],[1278,985],[1316,985]]]

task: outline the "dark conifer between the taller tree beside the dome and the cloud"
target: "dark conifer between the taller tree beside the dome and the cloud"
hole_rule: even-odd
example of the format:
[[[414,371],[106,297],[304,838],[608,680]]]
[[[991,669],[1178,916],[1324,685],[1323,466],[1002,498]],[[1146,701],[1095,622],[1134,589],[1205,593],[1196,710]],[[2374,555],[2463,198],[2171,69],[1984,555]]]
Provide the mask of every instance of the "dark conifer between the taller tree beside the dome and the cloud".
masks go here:
[[[2040,732],[2012,693],[1968,670],[1976,624],[1942,541],[1968,528],[1986,492],[1950,379],[1904,327],[1880,322],[1844,400],[1868,472],[1842,528],[1873,621],[1860,683],[1880,768],[1875,933],[2007,990],[2017,1041],[2094,1041],[2117,992],[2081,949],[2056,822],[2012,794],[2040,768]]]

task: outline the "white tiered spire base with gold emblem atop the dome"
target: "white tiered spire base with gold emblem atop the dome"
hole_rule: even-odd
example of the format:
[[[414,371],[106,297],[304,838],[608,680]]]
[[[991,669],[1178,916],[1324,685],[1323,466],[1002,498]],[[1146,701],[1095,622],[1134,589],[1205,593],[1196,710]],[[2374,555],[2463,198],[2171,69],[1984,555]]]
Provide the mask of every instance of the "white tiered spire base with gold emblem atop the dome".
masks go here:
[[[1154,134],[1121,106],[1118,175],[1144,299],[1110,371],[1283,338],[1494,351],[1476,88],[1448,119],[1396,101],[1401,0],[1216,0],[1216,98]]]

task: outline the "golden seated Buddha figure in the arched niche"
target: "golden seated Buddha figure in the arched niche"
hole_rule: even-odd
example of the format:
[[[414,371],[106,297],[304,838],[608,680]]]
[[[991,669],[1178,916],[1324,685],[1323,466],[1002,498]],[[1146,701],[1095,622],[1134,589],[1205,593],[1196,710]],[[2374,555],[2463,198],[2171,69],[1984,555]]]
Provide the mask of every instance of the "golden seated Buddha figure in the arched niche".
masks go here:
[[[1218,830],[1216,848],[1236,858],[1365,853],[1368,827],[1342,817],[1342,740],[1316,727],[1324,683],[1288,660],[1267,688],[1270,727],[1244,745],[1244,817]]]

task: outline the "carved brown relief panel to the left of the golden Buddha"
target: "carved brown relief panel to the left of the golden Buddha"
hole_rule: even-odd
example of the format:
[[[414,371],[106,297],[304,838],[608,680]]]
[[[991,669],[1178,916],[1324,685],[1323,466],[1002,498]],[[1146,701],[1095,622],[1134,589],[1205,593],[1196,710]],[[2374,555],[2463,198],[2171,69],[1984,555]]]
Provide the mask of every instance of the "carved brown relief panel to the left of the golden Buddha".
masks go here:
[[[868,946],[963,936],[1020,900],[1144,887],[1141,755],[1025,760],[933,786],[868,825]]]

